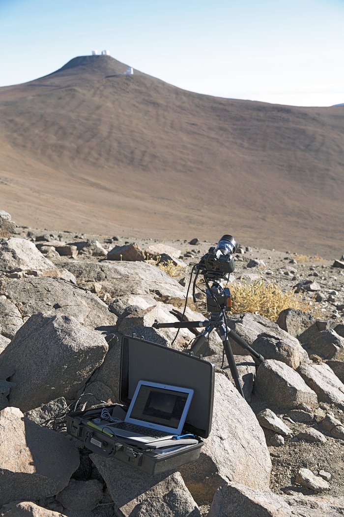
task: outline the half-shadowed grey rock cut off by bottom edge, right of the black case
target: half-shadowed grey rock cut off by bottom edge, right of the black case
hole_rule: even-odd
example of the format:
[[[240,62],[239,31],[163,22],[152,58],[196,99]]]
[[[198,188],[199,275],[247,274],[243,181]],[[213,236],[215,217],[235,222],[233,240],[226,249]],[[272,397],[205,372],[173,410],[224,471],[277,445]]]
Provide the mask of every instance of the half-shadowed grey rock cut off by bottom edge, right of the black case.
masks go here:
[[[270,490],[227,483],[216,492],[207,517],[291,517],[289,505]]]

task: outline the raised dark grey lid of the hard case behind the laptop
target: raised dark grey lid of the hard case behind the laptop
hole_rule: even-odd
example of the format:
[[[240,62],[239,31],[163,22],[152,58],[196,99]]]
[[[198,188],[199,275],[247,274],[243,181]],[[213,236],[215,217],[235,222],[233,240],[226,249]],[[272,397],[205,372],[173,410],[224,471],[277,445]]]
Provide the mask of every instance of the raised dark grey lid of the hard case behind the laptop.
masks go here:
[[[211,430],[215,366],[168,346],[123,336],[120,402],[129,405],[139,381],[171,384],[194,390],[185,429],[206,438]]]

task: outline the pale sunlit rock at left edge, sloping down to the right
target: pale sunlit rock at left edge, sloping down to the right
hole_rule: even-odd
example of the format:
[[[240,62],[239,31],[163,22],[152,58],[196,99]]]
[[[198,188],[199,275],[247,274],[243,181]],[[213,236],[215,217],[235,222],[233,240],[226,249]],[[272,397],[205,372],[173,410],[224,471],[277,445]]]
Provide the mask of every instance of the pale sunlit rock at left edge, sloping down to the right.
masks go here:
[[[0,238],[0,271],[14,269],[39,271],[42,276],[58,276],[58,269],[26,239]]]

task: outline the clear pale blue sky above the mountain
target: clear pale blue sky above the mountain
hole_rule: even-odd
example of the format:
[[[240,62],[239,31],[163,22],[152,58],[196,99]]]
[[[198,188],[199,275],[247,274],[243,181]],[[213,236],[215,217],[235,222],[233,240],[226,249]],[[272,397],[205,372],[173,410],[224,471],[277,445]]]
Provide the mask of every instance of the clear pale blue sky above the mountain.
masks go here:
[[[344,0],[0,0],[0,43],[0,86],[108,49],[193,92],[344,102]]]

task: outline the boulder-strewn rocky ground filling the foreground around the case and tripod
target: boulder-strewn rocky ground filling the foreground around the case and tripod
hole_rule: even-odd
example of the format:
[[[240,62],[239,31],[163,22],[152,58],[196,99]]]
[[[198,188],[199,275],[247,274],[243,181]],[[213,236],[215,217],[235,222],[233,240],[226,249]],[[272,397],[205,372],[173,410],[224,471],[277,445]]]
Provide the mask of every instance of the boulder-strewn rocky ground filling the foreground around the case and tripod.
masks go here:
[[[54,435],[63,436],[65,428],[56,425],[56,415],[66,404],[76,403],[85,383],[92,393],[87,407],[99,399],[116,402],[118,373],[113,364],[118,350],[113,343],[117,338],[135,331],[149,341],[171,343],[175,330],[155,330],[152,323],[181,317],[191,267],[216,242],[196,238],[191,243],[157,242],[38,230],[16,227],[6,216],[2,229],[0,419],[18,430],[24,414],[40,428],[42,422],[45,427],[55,425],[60,432]],[[238,246],[231,282],[276,282],[285,291],[300,292],[312,308],[312,315],[283,311],[278,325],[257,314],[230,317],[230,327],[266,359],[260,366],[254,364],[232,342],[245,397],[256,418],[252,420],[248,404],[233,388],[226,363],[221,364],[221,341],[211,336],[205,355],[216,364],[218,380],[212,432],[196,462],[199,472],[192,464],[183,466],[180,474],[156,480],[153,490],[152,481],[143,482],[142,474],[136,479],[139,474],[129,467],[128,473],[124,467],[111,470],[108,461],[90,456],[82,444],[68,438],[69,444],[79,448],[80,466],[75,467],[72,450],[54,442],[54,451],[59,447],[62,451],[64,478],[35,492],[23,478],[28,473],[32,477],[33,471],[13,465],[11,455],[4,452],[7,459],[0,467],[13,477],[5,476],[0,482],[3,515],[344,515],[344,258],[301,256],[290,250],[257,249],[252,244]],[[180,268],[173,268],[178,273],[174,278],[154,265],[157,255]],[[185,317],[199,319],[192,311],[202,305],[190,303],[190,307]],[[65,355],[59,341],[54,341],[61,333],[71,342]],[[193,337],[183,331],[174,346],[184,348]],[[50,348],[45,346],[47,339]],[[54,374],[42,367],[50,354]],[[78,368],[77,380],[75,370],[65,368],[69,362]],[[34,424],[26,423],[27,443],[30,425]],[[8,448],[6,439],[5,433]],[[233,445],[236,440],[239,447]],[[222,444],[219,449],[217,442]],[[23,447],[20,441],[17,445]],[[69,464],[65,454],[71,458]],[[119,497],[118,490],[127,490],[123,479],[130,484],[134,478],[143,499],[129,490]],[[17,486],[22,482],[23,490],[9,490],[10,479],[17,479]],[[83,507],[85,493],[93,495],[89,506]],[[177,506],[167,496],[171,493]],[[159,507],[156,497],[165,501],[163,506]],[[24,508],[27,503],[14,509],[13,501],[18,500],[33,501],[30,504],[41,509]]]

